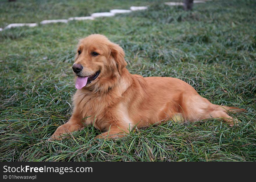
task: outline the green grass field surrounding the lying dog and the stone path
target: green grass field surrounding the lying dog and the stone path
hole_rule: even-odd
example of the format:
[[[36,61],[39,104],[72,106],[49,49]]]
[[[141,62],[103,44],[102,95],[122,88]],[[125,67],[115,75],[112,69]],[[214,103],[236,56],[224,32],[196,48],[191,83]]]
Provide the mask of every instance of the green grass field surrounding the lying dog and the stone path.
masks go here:
[[[1,26],[150,7],[94,21],[0,32],[0,161],[256,161],[254,0],[208,1],[191,12],[154,1],[105,0],[88,6],[85,14],[80,1],[42,2],[38,13],[26,15],[26,4],[1,1],[6,5],[0,6]],[[180,78],[214,104],[245,108],[246,113],[232,115],[241,123],[232,128],[215,119],[170,121],[118,140],[94,139],[99,131],[86,126],[63,141],[47,141],[71,115],[76,45],[91,33],[120,44],[132,74]]]

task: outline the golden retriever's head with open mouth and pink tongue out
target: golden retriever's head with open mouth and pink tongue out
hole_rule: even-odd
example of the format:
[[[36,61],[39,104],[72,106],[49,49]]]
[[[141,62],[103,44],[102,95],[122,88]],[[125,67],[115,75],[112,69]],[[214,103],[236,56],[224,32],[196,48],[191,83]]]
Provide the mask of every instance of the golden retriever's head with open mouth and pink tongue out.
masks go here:
[[[125,53],[118,45],[100,34],[81,39],[72,69],[77,76],[76,88],[111,87],[127,65]]]

